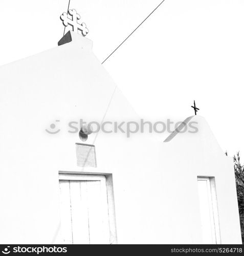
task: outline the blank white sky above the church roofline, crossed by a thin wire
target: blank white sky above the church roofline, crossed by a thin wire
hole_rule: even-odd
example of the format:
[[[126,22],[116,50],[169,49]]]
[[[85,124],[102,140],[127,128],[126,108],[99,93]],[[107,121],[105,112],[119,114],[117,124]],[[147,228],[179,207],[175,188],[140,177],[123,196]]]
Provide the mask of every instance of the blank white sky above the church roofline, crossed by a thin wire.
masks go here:
[[[0,0],[0,65],[57,46],[68,0]],[[71,0],[101,62],[161,0]],[[208,121],[244,159],[244,1],[165,0],[103,65],[144,119]],[[166,135],[163,135],[165,137]]]

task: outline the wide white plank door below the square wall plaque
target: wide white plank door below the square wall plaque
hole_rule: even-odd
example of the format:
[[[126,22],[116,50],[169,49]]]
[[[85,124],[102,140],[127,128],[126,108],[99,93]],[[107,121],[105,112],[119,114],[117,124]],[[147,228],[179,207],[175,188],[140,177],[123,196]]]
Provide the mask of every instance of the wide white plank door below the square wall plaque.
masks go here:
[[[109,244],[106,178],[101,175],[60,177],[63,243]]]

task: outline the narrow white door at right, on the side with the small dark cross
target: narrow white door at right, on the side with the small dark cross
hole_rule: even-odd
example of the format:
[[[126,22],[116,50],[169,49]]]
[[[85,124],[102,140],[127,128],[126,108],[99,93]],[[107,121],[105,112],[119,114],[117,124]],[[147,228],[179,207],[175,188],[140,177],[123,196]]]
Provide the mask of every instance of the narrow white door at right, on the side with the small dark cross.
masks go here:
[[[217,200],[214,179],[197,177],[199,209],[201,215],[202,243],[219,244]]]

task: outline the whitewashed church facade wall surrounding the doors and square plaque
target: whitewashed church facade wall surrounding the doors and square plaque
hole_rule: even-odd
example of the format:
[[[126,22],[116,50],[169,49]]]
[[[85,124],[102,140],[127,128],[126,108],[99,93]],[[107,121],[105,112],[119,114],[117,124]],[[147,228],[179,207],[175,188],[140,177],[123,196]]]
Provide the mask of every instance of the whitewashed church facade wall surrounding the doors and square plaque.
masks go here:
[[[105,120],[139,117],[81,36],[1,67],[0,81],[0,243],[59,243],[58,171],[82,171],[68,122],[101,121],[111,98]],[[61,131],[50,135],[55,120]],[[199,133],[167,143],[89,136],[94,172],[113,174],[118,243],[201,243],[197,175],[216,177],[222,242],[241,242],[233,163],[194,120]]]

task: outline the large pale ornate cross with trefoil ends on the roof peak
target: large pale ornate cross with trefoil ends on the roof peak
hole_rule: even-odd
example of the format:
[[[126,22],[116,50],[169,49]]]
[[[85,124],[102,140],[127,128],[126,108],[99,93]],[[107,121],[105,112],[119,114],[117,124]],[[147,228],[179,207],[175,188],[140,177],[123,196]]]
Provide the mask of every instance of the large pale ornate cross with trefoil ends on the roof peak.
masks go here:
[[[72,16],[72,19],[70,19],[68,17],[68,13]],[[77,21],[78,19],[80,19],[80,14],[78,14],[76,12],[75,9],[73,10],[69,10],[68,13],[64,12],[61,16],[60,16],[60,19],[62,20],[63,22],[63,25],[65,27],[67,27],[68,25],[71,25],[73,27],[73,31],[78,33],[78,30],[81,31],[82,35],[83,36],[86,36],[86,34],[88,33],[88,29],[86,28],[86,25],[85,23],[81,23],[79,24]]]

